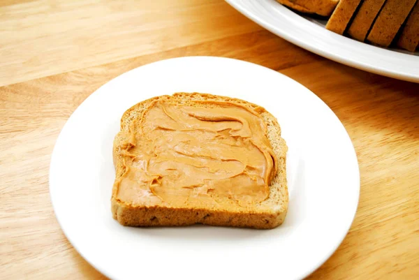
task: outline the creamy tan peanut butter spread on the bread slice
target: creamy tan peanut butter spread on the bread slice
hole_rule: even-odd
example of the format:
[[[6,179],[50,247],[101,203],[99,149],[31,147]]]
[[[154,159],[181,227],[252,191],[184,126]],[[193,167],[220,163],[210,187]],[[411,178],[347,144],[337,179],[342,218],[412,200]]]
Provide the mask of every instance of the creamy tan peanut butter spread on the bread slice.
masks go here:
[[[235,103],[153,101],[119,146],[117,198],[173,207],[262,202],[277,172],[266,133],[257,112]]]

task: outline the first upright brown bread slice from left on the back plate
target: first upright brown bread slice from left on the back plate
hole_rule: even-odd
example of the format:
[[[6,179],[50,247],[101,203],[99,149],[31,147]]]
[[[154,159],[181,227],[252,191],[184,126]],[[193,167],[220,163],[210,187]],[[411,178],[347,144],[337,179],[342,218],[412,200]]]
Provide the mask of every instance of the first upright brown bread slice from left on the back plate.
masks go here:
[[[362,0],[340,0],[335,11],[326,24],[326,29],[337,34],[344,34],[355,10]]]

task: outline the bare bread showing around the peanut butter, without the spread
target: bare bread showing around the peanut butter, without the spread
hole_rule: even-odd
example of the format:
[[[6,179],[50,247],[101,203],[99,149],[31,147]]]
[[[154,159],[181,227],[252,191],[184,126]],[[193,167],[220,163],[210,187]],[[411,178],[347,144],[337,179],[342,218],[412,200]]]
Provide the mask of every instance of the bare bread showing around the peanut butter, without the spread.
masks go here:
[[[277,159],[274,161],[276,163],[276,173],[273,174],[270,184],[267,186],[269,191],[265,200],[249,205],[240,205],[231,197],[222,198],[221,202],[212,201],[208,198],[211,203],[207,207],[203,207],[201,203],[196,203],[196,200],[199,200],[196,196],[193,198],[193,202],[185,205],[179,205],[175,202],[171,204],[170,200],[164,201],[157,198],[147,203],[133,203],[122,200],[119,197],[119,182],[131,168],[126,165],[126,161],[131,159],[133,162],[133,154],[130,154],[129,149],[135,147],[135,144],[130,143],[133,141],[135,143],[135,139],[141,139],[140,137],[147,138],[147,135],[134,135],[134,138],[132,138],[130,129],[132,130],[138,124],[136,122],[146,118],[145,114],[148,108],[152,108],[152,104],[156,102],[170,103],[174,106],[180,106],[181,109],[186,108],[186,106],[188,108],[203,108],[207,103],[233,104],[246,108],[252,114],[257,114],[258,119],[261,118],[266,127],[263,137],[269,142]],[[284,139],[281,138],[281,128],[277,119],[264,108],[253,103],[237,98],[198,93],[177,93],[172,96],[158,96],[142,101],[124,113],[121,119],[121,131],[115,137],[113,156],[116,179],[112,189],[112,215],[124,226],[186,226],[203,223],[212,226],[274,228],[283,223],[288,209],[286,152],[287,146]],[[240,188],[240,186],[232,187]],[[135,186],[133,186],[133,189],[135,190]],[[152,193],[148,192],[147,196],[153,196]],[[140,193],[134,195],[141,196]]]

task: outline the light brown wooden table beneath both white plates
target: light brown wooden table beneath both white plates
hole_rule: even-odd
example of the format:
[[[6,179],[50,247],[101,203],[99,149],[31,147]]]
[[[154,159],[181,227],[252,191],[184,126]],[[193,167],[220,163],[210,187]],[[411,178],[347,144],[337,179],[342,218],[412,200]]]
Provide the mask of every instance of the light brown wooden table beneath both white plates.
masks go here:
[[[351,136],[358,213],[309,279],[419,279],[419,84],[318,57],[221,0],[0,1],[0,279],[105,278],[55,219],[48,193],[54,142],[105,82],[190,55],[243,59],[288,75],[323,99]]]

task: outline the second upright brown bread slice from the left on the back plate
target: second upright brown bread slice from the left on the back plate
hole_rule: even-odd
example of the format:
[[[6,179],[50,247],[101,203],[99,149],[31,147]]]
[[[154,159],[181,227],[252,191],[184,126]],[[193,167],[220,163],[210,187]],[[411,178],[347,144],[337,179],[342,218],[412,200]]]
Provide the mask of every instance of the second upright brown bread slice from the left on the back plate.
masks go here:
[[[358,12],[355,17],[353,17],[351,26],[348,29],[348,35],[363,42],[384,2],[385,0],[362,1]]]

